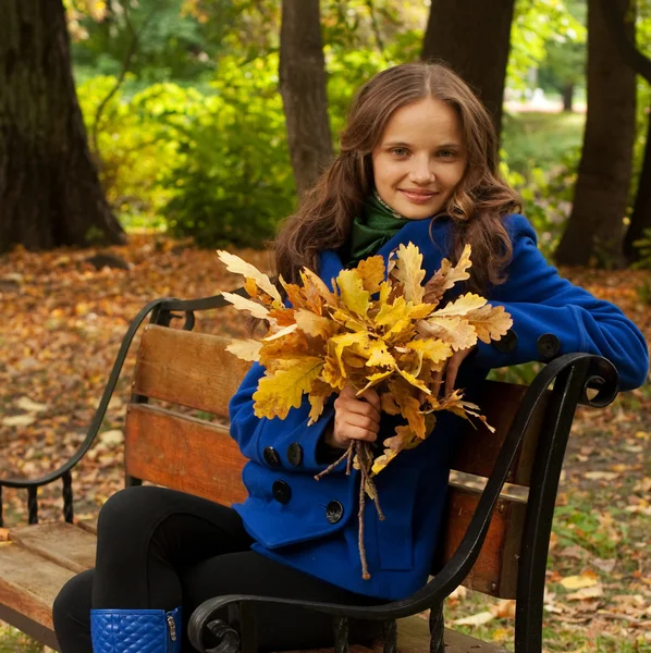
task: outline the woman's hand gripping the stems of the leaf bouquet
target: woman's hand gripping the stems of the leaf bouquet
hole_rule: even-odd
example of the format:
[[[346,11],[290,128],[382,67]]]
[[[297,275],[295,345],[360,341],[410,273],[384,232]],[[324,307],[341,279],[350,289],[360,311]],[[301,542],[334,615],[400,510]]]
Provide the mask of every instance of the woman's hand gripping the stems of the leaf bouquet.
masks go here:
[[[359,397],[346,385],[334,401],[334,424],[324,434],[326,444],[348,448],[351,440],[374,442],[380,431],[381,404],[378,393],[370,387]]]

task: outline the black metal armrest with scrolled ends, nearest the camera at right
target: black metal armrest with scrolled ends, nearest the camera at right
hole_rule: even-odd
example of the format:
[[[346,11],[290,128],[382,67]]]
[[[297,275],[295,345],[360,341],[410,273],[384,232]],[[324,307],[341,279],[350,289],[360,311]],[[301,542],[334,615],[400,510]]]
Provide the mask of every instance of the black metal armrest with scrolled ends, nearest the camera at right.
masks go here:
[[[463,582],[477,560],[491,522],[493,508],[500,497],[533,410],[543,398],[549,385],[552,382],[557,382],[557,380],[563,381],[563,396],[557,411],[558,414],[564,409],[570,411],[569,423],[572,423],[577,404],[603,407],[617,395],[617,372],[610,361],[600,356],[566,354],[548,364],[527,390],[502,445],[493,471],[481,494],[475,515],[457,550],[439,574],[409,599],[377,606],[359,606],[245,594],[218,596],[205,601],[193,613],[188,625],[188,637],[192,644],[197,651],[206,653],[202,632],[208,624],[216,619],[216,614],[220,609],[233,604],[272,603],[277,605],[296,605],[333,616],[371,620],[398,619],[440,604]],[[598,390],[598,394],[590,398],[587,393],[588,389]],[[568,428],[569,426],[567,426]],[[222,649],[225,653],[228,649],[225,642],[224,646],[214,649],[214,651],[219,650],[221,652]]]

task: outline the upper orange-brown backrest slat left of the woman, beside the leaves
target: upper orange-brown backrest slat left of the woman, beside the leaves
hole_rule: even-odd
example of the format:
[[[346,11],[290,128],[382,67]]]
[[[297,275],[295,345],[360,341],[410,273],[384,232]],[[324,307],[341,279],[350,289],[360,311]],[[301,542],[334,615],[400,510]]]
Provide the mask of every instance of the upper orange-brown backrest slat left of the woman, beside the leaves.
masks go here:
[[[148,325],[140,341],[133,392],[228,417],[229,399],[250,367],[225,350],[230,342],[218,335]]]

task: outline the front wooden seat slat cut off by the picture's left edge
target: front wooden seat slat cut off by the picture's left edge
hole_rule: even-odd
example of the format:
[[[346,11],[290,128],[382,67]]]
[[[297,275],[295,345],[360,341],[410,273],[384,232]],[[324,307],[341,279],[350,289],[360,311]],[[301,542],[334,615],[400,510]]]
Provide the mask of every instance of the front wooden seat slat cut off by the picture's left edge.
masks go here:
[[[52,603],[74,571],[26,551],[0,543],[0,604],[52,629]]]

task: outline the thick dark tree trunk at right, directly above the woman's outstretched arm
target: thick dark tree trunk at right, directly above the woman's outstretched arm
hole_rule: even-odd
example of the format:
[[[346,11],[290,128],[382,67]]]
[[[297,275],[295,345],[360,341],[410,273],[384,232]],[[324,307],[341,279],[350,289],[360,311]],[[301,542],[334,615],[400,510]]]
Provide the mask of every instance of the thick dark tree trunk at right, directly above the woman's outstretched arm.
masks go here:
[[[612,1],[624,14],[628,0]],[[634,35],[635,22],[629,20],[626,28]],[[635,73],[616,48],[599,0],[589,0],[588,115],[572,215],[556,251],[558,263],[623,262],[635,104]]]

